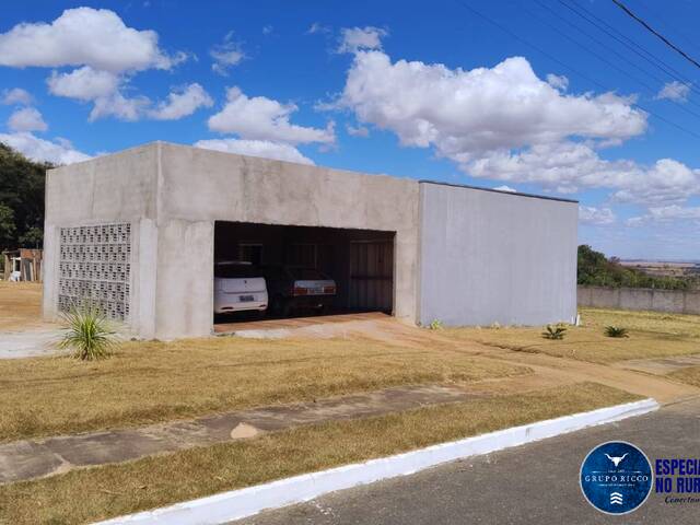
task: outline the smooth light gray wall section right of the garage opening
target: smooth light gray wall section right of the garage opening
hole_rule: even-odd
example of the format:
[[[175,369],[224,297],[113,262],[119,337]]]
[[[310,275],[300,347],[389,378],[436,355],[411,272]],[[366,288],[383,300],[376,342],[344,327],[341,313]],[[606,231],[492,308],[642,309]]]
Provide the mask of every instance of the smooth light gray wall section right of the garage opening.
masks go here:
[[[432,183],[420,202],[421,324],[575,317],[575,202]]]

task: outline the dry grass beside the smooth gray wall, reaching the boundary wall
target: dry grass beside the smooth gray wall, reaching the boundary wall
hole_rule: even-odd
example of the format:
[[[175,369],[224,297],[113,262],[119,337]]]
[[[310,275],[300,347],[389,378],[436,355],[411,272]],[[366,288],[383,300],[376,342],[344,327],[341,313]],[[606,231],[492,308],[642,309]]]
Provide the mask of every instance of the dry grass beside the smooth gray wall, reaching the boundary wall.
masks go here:
[[[700,353],[698,315],[582,308],[581,317],[583,326],[569,327],[563,340],[544,339],[542,327],[455,328],[444,334],[455,340],[594,363]],[[608,325],[627,328],[629,337],[606,337]]]

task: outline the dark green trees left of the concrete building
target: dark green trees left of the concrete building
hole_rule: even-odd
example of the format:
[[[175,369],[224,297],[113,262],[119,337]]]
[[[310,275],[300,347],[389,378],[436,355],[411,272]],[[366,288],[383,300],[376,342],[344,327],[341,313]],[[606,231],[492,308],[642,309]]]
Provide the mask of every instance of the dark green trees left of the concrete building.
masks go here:
[[[42,247],[49,167],[51,164],[31,161],[0,142],[0,252]]]

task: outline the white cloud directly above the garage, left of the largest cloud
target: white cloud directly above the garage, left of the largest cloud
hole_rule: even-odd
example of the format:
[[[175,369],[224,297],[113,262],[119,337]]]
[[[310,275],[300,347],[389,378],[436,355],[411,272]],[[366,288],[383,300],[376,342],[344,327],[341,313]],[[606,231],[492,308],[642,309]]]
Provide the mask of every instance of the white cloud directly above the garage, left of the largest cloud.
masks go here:
[[[290,144],[335,142],[332,122],[325,129],[291,124],[289,119],[298,109],[294,104],[280,104],[265,96],[249,98],[234,86],[226,91],[223,109],[209,118],[209,129],[236,133],[243,139]]]

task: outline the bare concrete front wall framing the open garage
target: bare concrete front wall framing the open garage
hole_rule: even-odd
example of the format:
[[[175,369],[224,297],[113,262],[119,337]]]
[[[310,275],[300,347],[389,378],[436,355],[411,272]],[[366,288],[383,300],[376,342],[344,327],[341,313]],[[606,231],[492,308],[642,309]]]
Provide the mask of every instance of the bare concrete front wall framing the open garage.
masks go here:
[[[418,182],[161,144],[156,336],[209,334],[214,222],[396,232],[394,307],[416,319]]]

